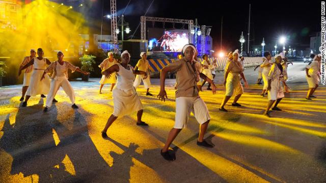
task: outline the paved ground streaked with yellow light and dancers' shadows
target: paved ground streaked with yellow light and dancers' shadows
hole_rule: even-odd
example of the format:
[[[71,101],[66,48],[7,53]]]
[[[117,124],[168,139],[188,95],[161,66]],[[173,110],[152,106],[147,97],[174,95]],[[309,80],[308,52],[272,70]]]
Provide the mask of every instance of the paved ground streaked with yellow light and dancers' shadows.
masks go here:
[[[118,118],[102,139],[108,116],[113,112],[108,86],[98,94],[98,82],[72,82],[79,109],[71,109],[60,90],[48,113],[45,100],[32,97],[21,103],[21,85],[0,88],[0,182],[325,182],[326,181],[326,88],[317,99],[305,100],[304,66],[289,66],[291,93],[286,94],[272,118],[262,114],[267,99],[257,95],[257,73],[246,69],[250,87],[230,112],[218,110],[225,88],[212,95],[200,93],[212,120],[206,138],[212,149],[196,145],[198,124],[192,116],[172,145],[176,161],[159,155],[174,124],[175,102],[168,80],[170,100],[146,97],[143,119],[150,126],[135,125],[135,113]],[[222,73],[215,81],[222,83]],[[91,79],[99,81],[99,78]],[[152,79],[158,94],[157,79]],[[232,99],[231,99],[232,100]]]

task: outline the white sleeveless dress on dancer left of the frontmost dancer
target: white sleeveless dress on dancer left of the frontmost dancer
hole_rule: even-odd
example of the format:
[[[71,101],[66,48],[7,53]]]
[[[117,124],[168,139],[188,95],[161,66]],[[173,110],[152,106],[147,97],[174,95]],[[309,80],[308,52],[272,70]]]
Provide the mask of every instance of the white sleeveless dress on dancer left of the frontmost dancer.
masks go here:
[[[143,105],[139,96],[133,87],[133,67],[128,65],[129,70],[118,64],[119,72],[117,75],[117,84],[112,91],[113,96],[113,115],[124,116],[132,112],[143,109]]]

